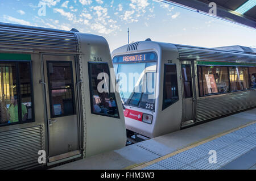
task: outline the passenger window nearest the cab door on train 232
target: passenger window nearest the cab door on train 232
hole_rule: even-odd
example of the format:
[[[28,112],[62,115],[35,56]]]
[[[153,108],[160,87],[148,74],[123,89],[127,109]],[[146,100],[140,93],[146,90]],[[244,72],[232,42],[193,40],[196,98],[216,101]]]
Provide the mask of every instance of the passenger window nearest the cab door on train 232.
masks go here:
[[[224,66],[199,66],[200,96],[229,92],[228,68]]]

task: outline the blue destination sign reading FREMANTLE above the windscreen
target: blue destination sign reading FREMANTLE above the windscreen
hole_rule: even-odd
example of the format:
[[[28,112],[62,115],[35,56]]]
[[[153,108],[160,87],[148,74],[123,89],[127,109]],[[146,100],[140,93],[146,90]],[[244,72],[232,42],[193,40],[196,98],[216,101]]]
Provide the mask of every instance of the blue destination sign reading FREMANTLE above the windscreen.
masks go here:
[[[139,61],[156,61],[156,53],[139,53],[139,54],[129,54],[123,56],[115,56],[113,58],[113,63],[121,62],[139,62]]]

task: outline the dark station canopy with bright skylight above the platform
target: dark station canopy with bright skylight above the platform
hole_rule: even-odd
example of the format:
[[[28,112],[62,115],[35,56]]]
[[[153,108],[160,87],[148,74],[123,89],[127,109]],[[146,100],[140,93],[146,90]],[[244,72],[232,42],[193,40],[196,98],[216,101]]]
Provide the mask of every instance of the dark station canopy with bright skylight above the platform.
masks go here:
[[[209,13],[211,2],[217,5],[219,18],[256,28],[256,0],[165,0],[197,11]]]

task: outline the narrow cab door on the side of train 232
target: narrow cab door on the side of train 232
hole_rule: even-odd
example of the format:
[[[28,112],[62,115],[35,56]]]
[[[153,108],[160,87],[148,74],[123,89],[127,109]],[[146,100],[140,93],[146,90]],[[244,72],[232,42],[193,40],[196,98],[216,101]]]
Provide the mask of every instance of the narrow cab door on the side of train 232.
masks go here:
[[[191,61],[181,61],[181,82],[183,84],[183,116],[182,122],[184,124],[193,123],[195,115],[195,91],[194,87],[194,71]]]

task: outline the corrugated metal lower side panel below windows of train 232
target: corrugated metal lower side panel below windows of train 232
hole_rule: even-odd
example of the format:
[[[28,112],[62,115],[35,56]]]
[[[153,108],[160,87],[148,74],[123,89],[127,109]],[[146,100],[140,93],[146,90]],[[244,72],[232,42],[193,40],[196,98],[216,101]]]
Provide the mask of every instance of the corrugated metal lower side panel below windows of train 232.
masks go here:
[[[197,99],[196,121],[213,119],[256,106],[256,90],[233,92]]]

